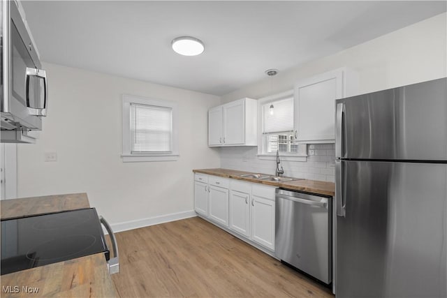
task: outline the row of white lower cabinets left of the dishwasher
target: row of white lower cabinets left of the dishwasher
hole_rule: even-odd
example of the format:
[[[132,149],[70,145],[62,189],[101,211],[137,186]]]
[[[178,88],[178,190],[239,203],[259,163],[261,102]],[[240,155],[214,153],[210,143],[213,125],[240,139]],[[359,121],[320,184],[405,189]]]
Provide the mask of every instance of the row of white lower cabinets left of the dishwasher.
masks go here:
[[[200,216],[274,252],[274,186],[206,174],[194,179],[194,209]]]

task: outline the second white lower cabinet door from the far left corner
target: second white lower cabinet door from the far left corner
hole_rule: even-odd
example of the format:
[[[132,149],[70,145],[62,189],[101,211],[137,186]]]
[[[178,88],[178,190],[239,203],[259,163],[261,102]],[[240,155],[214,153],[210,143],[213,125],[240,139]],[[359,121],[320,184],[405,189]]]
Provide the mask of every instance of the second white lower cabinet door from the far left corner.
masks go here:
[[[228,227],[228,189],[208,186],[208,202],[210,203],[210,219]]]

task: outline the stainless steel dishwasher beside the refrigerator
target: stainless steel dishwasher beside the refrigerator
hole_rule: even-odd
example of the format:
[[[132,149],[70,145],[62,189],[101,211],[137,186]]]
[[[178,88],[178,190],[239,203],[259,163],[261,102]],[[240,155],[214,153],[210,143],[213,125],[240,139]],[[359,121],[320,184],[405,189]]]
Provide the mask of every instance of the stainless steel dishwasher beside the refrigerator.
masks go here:
[[[282,262],[332,282],[332,199],[276,190],[275,255]]]

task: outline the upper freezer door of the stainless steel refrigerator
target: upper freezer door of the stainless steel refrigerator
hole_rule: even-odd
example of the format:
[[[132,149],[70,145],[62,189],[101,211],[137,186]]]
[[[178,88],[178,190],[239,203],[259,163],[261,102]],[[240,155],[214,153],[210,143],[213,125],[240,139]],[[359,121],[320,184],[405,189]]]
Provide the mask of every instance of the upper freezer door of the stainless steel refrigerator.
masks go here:
[[[447,161],[447,79],[337,100],[336,157]]]

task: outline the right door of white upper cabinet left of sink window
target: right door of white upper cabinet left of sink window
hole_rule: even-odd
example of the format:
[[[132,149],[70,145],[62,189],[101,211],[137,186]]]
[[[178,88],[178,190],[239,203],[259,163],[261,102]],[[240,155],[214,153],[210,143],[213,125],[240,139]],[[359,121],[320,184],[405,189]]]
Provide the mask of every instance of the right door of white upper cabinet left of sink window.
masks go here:
[[[223,144],[245,142],[245,101],[236,100],[223,105]]]

